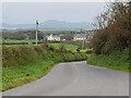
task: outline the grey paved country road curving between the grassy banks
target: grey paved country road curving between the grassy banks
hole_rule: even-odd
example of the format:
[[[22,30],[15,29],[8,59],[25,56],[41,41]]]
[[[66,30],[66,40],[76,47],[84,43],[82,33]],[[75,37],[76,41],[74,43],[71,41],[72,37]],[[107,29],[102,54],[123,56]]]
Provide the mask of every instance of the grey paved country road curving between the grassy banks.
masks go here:
[[[3,96],[129,96],[129,74],[85,61],[60,63],[40,79]]]

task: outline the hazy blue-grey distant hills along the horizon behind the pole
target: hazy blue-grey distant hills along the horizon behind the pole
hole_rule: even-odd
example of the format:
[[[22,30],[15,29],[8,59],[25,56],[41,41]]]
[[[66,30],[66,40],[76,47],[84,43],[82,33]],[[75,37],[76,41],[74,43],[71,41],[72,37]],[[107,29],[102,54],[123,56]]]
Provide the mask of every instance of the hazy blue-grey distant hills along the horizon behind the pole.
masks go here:
[[[7,29],[19,29],[19,28],[35,28],[35,24],[2,24],[2,28]],[[93,29],[92,23],[88,22],[64,22],[57,20],[49,20],[43,23],[39,23],[39,28],[84,28]]]

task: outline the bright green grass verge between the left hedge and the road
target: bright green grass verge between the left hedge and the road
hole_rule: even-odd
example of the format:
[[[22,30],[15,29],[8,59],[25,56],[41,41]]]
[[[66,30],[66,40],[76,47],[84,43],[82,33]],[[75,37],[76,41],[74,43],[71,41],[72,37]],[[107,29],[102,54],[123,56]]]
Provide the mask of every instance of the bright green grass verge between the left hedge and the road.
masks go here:
[[[53,64],[51,60],[40,60],[23,66],[3,68],[2,90],[24,85],[46,75]]]

